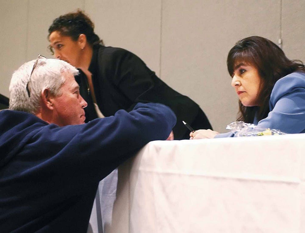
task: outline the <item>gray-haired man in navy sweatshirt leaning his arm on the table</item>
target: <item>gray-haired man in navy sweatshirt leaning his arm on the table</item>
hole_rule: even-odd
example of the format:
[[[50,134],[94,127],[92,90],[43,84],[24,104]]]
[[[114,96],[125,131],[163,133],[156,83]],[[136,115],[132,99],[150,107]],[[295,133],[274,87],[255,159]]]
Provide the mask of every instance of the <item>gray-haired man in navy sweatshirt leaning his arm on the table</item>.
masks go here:
[[[86,232],[99,181],[176,123],[161,104],[84,124],[70,64],[38,56],[13,74],[0,112],[1,232]]]

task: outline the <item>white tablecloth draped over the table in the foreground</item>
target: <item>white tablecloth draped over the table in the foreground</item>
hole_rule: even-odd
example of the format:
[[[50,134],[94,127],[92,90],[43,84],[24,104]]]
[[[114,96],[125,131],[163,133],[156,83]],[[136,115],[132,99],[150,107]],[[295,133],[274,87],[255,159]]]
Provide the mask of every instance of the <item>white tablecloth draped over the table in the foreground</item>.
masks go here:
[[[150,142],[107,232],[305,232],[304,155],[305,134]]]

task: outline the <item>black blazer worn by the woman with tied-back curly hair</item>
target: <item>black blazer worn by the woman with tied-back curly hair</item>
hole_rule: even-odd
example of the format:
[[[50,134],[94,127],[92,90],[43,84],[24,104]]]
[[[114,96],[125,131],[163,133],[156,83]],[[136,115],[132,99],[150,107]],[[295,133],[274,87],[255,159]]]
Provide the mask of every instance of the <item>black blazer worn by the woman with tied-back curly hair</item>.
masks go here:
[[[122,49],[95,45],[89,66],[95,97],[105,117],[119,109],[131,111],[138,102],[159,102],[169,106],[177,116],[173,128],[175,139],[188,139],[189,131],[182,120],[195,129],[212,129],[199,105],[170,88],[135,54]],[[87,101],[86,122],[97,118],[88,91],[86,75],[80,70],[75,77],[80,93]]]

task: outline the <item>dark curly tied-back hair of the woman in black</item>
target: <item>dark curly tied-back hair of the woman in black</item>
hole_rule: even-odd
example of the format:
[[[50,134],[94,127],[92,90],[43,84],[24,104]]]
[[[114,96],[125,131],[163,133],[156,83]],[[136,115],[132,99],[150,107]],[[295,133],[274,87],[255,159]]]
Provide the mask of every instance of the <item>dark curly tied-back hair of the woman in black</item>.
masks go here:
[[[53,20],[48,29],[48,39],[53,31],[59,31],[61,35],[70,36],[74,41],[77,41],[80,34],[85,34],[91,46],[96,44],[104,45],[99,36],[94,33],[94,23],[80,9],[77,9],[76,12],[61,15]],[[50,46],[48,48],[53,53],[52,48]]]

